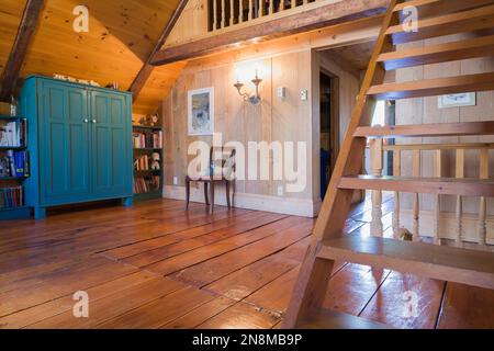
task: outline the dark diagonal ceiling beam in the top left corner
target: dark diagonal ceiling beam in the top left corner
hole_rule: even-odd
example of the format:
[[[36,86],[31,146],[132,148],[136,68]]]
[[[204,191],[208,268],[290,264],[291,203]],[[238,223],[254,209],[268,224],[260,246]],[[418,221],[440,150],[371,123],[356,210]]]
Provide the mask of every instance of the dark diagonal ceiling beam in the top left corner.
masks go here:
[[[9,101],[14,93],[22,64],[43,12],[44,0],[27,0],[12,50],[0,78],[0,101]]]

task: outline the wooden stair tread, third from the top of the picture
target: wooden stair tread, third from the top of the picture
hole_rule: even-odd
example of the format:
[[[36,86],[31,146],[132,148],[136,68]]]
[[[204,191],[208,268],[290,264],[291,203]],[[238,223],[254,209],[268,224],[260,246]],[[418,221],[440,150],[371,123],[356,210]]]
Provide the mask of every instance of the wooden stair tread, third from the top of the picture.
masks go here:
[[[494,35],[384,53],[378,63],[382,63],[385,70],[393,70],[485,56],[494,56]]]

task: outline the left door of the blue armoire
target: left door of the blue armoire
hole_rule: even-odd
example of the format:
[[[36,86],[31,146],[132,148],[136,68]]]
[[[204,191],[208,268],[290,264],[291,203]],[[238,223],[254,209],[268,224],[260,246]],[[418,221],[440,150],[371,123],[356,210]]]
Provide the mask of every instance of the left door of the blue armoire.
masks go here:
[[[44,156],[42,204],[70,202],[89,195],[89,138],[86,89],[43,82],[42,121]]]

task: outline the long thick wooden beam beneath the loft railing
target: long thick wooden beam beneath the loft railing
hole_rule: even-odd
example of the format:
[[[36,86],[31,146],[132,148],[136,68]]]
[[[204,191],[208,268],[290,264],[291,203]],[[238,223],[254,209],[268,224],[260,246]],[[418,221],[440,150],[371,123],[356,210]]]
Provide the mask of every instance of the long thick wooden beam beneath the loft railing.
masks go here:
[[[232,30],[183,45],[157,52],[151,65],[170,63],[212,55],[297,33],[314,31],[343,22],[355,21],[385,12],[389,0],[346,0],[330,3],[301,13],[279,18],[262,24]]]

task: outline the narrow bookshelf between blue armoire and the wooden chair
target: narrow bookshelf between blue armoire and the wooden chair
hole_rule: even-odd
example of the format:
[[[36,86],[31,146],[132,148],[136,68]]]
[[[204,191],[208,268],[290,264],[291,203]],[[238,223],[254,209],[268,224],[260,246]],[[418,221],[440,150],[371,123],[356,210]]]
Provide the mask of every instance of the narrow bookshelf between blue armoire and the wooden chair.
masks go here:
[[[134,200],[161,199],[164,184],[162,128],[134,125]],[[154,155],[159,155],[159,170],[153,169]]]

